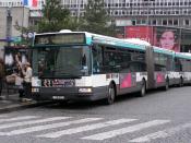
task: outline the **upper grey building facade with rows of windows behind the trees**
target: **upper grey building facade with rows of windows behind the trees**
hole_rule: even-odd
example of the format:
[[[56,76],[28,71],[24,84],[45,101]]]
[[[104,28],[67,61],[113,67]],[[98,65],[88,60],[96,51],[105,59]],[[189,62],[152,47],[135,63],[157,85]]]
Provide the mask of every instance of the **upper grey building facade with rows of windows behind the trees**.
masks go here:
[[[191,27],[191,0],[104,0],[117,26],[159,25]],[[87,0],[62,0],[73,16],[84,14]]]

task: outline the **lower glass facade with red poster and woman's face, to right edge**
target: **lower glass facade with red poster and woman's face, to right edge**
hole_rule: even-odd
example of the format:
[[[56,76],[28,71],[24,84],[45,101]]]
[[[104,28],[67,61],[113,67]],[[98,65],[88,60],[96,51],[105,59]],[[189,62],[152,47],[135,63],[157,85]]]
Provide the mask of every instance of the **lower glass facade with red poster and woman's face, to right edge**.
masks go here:
[[[191,52],[191,29],[170,26],[124,26],[123,38],[139,38],[178,52]]]

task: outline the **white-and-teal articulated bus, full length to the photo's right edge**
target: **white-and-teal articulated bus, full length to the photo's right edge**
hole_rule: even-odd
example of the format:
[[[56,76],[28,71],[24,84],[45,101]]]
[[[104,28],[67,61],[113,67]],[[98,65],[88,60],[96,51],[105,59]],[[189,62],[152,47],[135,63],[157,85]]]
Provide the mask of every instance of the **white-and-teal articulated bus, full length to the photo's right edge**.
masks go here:
[[[36,34],[32,96],[112,104],[118,95],[191,82],[191,56],[87,32]]]

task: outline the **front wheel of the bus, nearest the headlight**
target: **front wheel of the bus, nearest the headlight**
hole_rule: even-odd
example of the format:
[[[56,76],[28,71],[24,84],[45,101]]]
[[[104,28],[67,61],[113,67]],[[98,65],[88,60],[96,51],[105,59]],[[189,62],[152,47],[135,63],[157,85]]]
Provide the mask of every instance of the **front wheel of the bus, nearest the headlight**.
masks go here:
[[[107,98],[106,98],[106,104],[111,105],[114,104],[116,98],[116,91],[114,84],[109,85],[108,93],[107,93]]]

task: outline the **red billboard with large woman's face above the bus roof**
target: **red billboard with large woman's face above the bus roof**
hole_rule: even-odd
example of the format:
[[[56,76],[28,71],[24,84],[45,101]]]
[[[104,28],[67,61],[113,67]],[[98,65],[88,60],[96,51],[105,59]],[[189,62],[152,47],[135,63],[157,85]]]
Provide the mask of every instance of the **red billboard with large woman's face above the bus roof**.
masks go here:
[[[140,38],[153,46],[180,51],[180,29],[162,26],[127,26],[126,38]]]

